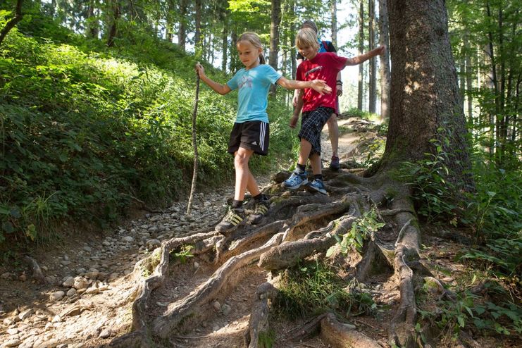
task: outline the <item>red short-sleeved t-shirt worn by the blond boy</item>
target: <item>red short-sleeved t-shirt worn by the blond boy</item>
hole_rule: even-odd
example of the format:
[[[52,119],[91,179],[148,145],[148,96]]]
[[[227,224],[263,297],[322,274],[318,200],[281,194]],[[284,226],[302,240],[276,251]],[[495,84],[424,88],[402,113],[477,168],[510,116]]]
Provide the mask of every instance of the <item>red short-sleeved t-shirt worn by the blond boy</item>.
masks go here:
[[[325,80],[326,84],[332,88],[332,93],[321,96],[311,88],[305,88],[303,92],[303,112],[312,111],[319,106],[327,108],[337,108],[336,85],[337,73],[346,66],[348,58],[337,56],[335,53],[318,53],[310,61],[303,61],[297,67],[296,80],[311,81]]]

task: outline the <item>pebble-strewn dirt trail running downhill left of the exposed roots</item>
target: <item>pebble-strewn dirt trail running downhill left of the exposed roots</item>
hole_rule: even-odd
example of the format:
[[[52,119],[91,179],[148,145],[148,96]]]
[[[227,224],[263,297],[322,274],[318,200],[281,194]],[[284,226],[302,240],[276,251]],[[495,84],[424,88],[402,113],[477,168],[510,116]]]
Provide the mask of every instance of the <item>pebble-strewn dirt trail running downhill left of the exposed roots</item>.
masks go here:
[[[347,120],[340,120],[341,127],[345,123]],[[342,134],[339,142],[342,158],[353,151],[357,139],[359,135],[352,132]],[[323,151],[325,166],[328,166],[331,147],[327,128],[323,132]],[[268,182],[261,180],[260,185],[268,185]],[[149,255],[163,240],[191,235],[215,225],[223,213],[223,196],[228,197],[232,192],[230,186],[214,194],[197,194],[192,216],[184,216],[186,202],[180,201],[165,213],[138,212],[139,218],[104,234],[76,231],[63,242],[42,247],[31,256],[46,277],[44,283],[34,280],[32,271],[21,260],[14,266],[1,265],[0,347],[97,347],[128,332],[136,287],[132,271],[137,261]],[[80,227],[73,229],[80,230]],[[194,284],[209,277],[217,267],[194,268],[194,262],[198,264],[189,259],[183,266],[186,272],[180,272],[179,277],[154,294],[154,311],[165,311],[168,303],[191,292]],[[183,274],[186,278],[181,278]],[[228,299],[223,299],[220,307],[216,304],[218,310],[209,309],[219,312],[216,318],[193,328],[191,338],[180,337],[177,344],[209,347],[211,340],[213,344],[222,342],[223,347],[235,344],[240,347],[248,323],[244,313],[248,313],[254,284],[259,283],[249,285],[249,278],[267,278],[266,272],[253,274],[247,275],[242,285]],[[242,290],[244,287],[247,289]],[[199,336],[203,337],[199,341],[193,338]],[[235,336],[237,340],[232,340]]]

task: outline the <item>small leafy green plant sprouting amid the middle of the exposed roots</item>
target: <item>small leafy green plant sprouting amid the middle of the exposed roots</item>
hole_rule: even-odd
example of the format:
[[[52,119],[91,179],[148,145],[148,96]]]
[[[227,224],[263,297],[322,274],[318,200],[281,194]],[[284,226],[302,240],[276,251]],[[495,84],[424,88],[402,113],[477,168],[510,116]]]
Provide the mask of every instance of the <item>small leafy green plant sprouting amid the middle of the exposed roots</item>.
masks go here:
[[[379,222],[379,220],[380,218],[377,211],[371,209],[370,211],[365,211],[361,218],[354,221],[352,228],[342,236],[342,239],[339,236],[334,235],[341,253],[347,255],[352,251],[352,249],[361,253],[364,241],[371,235],[371,233],[377,232],[379,228],[382,228],[385,225],[385,223]],[[335,249],[335,246],[330,247],[328,251],[326,251],[326,257],[330,257]]]

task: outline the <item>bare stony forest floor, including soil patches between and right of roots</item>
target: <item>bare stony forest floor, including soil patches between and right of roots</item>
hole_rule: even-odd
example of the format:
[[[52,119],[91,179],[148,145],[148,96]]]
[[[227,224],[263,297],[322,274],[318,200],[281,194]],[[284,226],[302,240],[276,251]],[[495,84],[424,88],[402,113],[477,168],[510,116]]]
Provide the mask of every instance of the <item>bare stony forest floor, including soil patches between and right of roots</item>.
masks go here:
[[[367,152],[360,144],[377,137],[368,131],[366,123],[351,125],[351,121],[339,122],[341,162],[366,160]],[[328,166],[331,147],[327,128],[323,138],[323,159]],[[259,181],[261,186],[269,183],[268,177]],[[30,255],[41,268],[45,282],[32,278],[22,256],[14,264],[0,265],[0,347],[100,347],[129,333],[137,278],[147,276],[135,268],[137,262],[164,240],[193,235],[218,223],[226,207],[224,197],[231,197],[233,189],[228,185],[214,192],[197,193],[190,216],[185,215],[187,201],[178,201],[163,213],[135,211],[134,218],[113,230],[92,232],[71,227],[66,237]],[[397,231],[385,230],[393,242]],[[429,225],[422,231],[425,258],[437,265],[440,280],[454,285],[466,275],[466,266],[454,261],[461,249],[461,240],[455,238],[459,232]],[[216,268],[198,257],[187,256],[187,262],[180,264],[171,277],[175,281],[167,282],[152,297],[152,309],[163,313],[175,297],[192,292]],[[375,275],[367,282],[375,310],[371,315],[354,316],[350,323],[382,347],[390,347],[387,325],[392,311],[386,309],[399,303],[399,289],[392,274]],[[256,286],[266,278],[267,272],[261,268],[246,275],[226,299],[211,304],[209,311],[215,311],[211,319],[171,337],[171,347],[243,347]],[[274,347],[328,347],[320,337],[285,340],[303,323],[302,319],[278,321],[273,328],[277,337]],[[439,347],[457,347],[449,339],[439,342]],[[521,347],[499,337],[474,337],[471,342],[480,347]]]

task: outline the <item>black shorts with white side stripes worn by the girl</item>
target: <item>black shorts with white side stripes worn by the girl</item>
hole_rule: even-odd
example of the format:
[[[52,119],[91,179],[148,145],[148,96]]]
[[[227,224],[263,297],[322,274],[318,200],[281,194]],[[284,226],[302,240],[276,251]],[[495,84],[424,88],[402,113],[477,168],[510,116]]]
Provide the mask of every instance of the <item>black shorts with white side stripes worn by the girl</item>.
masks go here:
[[[266,156],[268,154],[268,139],[270,138],[270,125],[263,121],[247,121],[234,123],[230,140],[228,141],[228,153],[234,154],[240,147],[254,151],[255,154]]]

